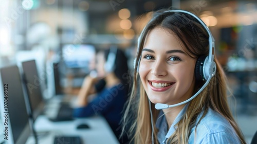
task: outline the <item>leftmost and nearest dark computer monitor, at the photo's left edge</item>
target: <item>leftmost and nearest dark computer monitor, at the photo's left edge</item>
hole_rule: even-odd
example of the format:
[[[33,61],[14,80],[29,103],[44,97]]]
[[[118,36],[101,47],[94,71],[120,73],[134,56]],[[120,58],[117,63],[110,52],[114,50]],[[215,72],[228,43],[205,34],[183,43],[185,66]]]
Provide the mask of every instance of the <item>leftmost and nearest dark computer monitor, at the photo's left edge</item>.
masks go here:
[[[2,79],[2,90],[7,92],[1,99],[7,99],[6,106],[8,109],[3,110],[3,114],[9,118],[8,125],[8,140],[7,143],[24,144],[31,134],[29,116],[27,114],[24,91],[20,77],[19,68],[14,66],[3,67],[0,69]],[[3,102],[4,104],[4,102]],[[5,120],[6,121],[6,120]]]

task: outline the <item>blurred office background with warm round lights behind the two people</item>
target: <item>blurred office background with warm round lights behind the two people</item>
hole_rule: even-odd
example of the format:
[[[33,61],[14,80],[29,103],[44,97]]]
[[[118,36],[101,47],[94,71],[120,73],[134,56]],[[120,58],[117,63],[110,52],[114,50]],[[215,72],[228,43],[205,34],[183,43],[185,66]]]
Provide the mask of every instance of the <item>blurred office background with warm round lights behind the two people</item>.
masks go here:
[[[111,45],[126,52],[133,70],[138,34],[152,11],[172,6],[195,13],[213,33],[216,57],[234,95],[229,98],[231,110],[246,140],[257,131],[256,1],[0,2],[0,66],[36,59],[45,98],[76,94],[74,87],[94,69],[95,52]],[[59,83],[54,85],[54,80]]]

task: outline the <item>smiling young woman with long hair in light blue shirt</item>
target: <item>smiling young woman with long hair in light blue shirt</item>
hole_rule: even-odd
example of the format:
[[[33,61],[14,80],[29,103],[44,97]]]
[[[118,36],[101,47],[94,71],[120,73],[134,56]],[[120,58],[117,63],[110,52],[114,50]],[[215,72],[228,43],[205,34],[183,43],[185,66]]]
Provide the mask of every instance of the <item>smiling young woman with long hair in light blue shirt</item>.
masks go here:
[[[123,132],[134,143],[246,143],[229,110],[221,65],[214,58],[210,67],[203,67],[214,57],[208,32],[195,15],[179,10],[158,10],[146,24],[123,118]]]

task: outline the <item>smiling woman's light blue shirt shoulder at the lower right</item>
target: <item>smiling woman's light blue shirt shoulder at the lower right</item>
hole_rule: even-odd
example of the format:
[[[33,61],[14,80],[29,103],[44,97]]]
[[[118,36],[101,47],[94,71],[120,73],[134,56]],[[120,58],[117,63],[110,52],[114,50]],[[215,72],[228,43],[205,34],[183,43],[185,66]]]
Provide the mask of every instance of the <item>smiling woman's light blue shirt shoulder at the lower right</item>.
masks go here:
[[[197,122],[200,117],[197,119]],[[196,123],[197,123],[196,122]],[[190,139],[196,137],[198,142],[237,143],[238,137],[229,123],[221,114],[209,109],[207,114],[191,130]],[[196,142],[196,143],[198,143]]]

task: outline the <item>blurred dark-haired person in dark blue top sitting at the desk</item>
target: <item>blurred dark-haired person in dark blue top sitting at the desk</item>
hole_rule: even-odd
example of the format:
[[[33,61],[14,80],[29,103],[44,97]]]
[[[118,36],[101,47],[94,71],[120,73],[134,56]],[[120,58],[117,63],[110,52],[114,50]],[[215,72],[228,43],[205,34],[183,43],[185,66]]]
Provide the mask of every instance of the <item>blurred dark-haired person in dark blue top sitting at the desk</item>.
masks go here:
[[[89,75],[84,79],[74,117],[102,115],[119,142],[126,143],[125,135],[120,138],[120,120],[128,93],[127,58],[122,50],[111,47],[98,53],[96,66],[97,77]],[[93,94],[95,97],[89,101]]]

